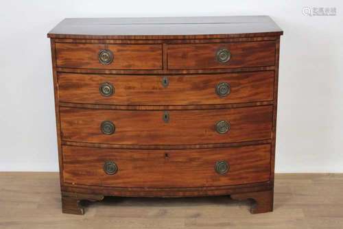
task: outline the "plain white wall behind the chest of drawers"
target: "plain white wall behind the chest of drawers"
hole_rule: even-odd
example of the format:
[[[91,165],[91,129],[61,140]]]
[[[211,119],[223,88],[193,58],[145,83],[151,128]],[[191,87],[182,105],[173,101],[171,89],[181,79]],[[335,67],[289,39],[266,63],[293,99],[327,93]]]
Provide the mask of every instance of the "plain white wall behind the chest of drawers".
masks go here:
[[[304,16],[303,7],[337,16]],[[47,32],[66,17],[270,15],[281,38],[276,171],[343,172],[342,1],[3,1],[0,171],[58,171]]]

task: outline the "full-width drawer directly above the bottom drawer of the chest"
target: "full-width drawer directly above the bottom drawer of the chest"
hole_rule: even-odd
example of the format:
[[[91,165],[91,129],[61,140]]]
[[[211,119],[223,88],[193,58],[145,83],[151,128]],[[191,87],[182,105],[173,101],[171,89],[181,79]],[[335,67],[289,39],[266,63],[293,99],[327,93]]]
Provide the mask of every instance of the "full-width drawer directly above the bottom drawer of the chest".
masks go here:
[[[217,110],[60,108],[63,141],[188,145],[270,139],[272,106]]]

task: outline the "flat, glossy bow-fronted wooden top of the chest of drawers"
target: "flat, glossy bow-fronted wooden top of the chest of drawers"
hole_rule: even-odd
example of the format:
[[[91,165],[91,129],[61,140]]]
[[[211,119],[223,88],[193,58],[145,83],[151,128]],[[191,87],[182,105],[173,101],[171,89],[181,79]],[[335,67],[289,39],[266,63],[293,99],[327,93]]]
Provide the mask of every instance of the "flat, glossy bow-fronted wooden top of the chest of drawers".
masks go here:
[[[178,18],[64,19],[50,38],[213,38],[278,36],[283,32],[269,16]]]

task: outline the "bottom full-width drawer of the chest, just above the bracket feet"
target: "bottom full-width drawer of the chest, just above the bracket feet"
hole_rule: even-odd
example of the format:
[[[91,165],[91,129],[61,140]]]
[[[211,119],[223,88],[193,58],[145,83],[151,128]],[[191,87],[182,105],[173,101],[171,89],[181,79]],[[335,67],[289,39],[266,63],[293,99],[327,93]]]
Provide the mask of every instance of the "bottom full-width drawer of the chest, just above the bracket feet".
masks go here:
[[[200,187],[270,180],[270,145],[217,149],[104,149],[64,145],[66,183]]]

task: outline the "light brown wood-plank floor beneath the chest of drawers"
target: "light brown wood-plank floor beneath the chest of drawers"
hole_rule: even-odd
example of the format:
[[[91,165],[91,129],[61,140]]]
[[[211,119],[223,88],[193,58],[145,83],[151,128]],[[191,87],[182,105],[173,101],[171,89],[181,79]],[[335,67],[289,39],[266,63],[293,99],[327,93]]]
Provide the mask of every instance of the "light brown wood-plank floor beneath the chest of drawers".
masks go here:
[[[0,173],[0,228],[343,228],[343,174],[278,174],[274,212],[228,197],[110,197],[61,213],[58,173]]]

